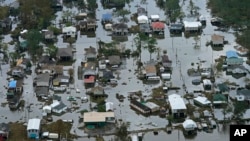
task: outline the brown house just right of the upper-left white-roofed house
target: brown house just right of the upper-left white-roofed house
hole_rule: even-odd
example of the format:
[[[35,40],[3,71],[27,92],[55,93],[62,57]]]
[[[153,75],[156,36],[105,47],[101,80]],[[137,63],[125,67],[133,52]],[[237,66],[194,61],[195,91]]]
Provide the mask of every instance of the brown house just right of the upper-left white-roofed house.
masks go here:
[[[81,31],[95,31],[96,26],[97,25],[95,19],[85,19],[79,21],[79,28]]]

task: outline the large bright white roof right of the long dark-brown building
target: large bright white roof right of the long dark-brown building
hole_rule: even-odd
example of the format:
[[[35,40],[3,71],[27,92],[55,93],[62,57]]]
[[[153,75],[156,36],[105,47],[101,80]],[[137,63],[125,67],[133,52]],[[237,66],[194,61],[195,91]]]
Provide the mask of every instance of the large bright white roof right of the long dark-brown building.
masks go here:
[[[187,109],[186,104],[184,103],[183,98],[178,94],[171,94],[168,96],[168,100],[171,106],[171,109]]]

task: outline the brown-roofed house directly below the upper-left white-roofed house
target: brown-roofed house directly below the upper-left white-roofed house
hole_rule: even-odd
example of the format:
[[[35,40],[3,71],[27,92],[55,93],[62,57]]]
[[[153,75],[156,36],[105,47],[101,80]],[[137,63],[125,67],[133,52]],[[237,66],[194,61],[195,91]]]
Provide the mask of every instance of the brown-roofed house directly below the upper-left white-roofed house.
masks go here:
[[[73,59],[72,48],[58,48],[56,57],[60,61],[69,61]]]

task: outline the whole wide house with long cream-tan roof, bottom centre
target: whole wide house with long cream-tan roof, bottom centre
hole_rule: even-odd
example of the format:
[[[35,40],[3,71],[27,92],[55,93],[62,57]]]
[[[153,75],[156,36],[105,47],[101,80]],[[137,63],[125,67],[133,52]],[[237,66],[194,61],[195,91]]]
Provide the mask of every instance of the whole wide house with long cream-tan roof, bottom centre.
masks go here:
[[[114,122],[114,112],[85,112],[83,114],[83,122],[88,126],[103,127],[106,123]]]

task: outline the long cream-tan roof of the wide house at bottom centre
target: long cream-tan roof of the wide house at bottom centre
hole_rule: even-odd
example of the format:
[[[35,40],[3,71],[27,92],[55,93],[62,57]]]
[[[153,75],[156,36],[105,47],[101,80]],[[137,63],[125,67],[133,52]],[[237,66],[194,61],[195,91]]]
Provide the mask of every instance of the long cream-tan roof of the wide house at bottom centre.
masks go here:
[[[86,112],[83,115],[84,122],[105,122],[107,117],[115,117],[114,112]]]

